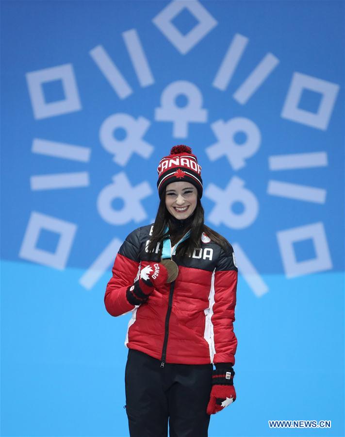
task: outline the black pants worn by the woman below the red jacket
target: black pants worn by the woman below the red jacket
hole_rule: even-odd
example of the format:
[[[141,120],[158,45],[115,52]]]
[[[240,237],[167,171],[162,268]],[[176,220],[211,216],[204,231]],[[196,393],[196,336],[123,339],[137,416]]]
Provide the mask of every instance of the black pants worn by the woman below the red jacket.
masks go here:
[[[167,364],[130,349],[126,411],[131,437],[207,437],[212,364]]]

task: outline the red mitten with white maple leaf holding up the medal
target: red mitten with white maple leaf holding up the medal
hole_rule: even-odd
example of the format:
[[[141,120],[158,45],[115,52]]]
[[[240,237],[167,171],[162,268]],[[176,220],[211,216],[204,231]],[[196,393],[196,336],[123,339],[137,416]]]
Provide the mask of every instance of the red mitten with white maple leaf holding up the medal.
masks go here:
[[[140,271],[139,280],[127,288],[126,296],[132,305],[140,305],[148,301],[154,288],[166,283],[168,272],[161,263],[150,263]]]

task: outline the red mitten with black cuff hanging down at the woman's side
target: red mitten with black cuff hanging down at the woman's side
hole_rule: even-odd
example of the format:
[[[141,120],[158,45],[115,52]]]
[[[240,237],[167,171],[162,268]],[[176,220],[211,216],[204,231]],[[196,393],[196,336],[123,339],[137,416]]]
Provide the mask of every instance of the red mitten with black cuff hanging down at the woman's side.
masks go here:
[[[236,391],[233,386],[233,376],[235,372],[232,368],[218,369],[213,371],[212,389],[210,401],[207,405],[207,414],[215,414],[221,411],[230,403],[236,400]]]

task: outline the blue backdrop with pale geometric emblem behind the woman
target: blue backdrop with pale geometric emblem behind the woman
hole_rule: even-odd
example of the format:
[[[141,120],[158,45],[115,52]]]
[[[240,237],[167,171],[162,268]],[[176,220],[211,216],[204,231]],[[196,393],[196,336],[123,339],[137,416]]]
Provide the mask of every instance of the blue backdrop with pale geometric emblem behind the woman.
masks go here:
[[[175,144],[239,266],[209,435],[345,435],[344,49],[343,1],[1,2],[2,436],[128,436],[103,297]]]

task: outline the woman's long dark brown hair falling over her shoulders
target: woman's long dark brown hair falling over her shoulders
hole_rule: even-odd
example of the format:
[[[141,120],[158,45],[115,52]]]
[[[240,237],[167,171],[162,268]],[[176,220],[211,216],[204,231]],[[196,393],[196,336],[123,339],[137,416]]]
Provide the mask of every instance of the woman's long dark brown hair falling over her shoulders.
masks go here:
[[[173,238],[174,242],[177,242],[186,232],[185,229],[181,231],[176,226],[174,220],[172,220],[172,216],[167,210],[165,206],[165,189],[162,192],[161,201],[159,202],[157,215],[155,218],[155,222],[153,225],[152,235],[150,236],[150,241],[148,243],[148,252],[153,252],[156,249],[156,245],[158,242],[162,242],[165,238],[170,237]],[[178,245],[176,249],[176,255],[179,257],[182,256],[191,256],[194,249],[201,248],[201,235],[204,232],[212,241],[219,244],[226,252],[230,249],[229,241],[224,238],[222,235],[218,234],[213,229],[209,228],[204,223],[204,208],[201,205],[201,201],[199,196],[197,196],[197,206],[191,216],[192,222],[190,224],[190,236],[186,240],[184,240],[181,244]],[[165,227],[168,226],[169,232],[164,233]],[[161,252],[162,253],[162,245]]]

